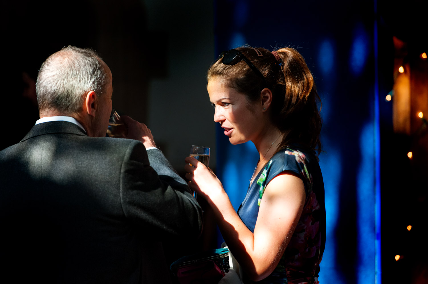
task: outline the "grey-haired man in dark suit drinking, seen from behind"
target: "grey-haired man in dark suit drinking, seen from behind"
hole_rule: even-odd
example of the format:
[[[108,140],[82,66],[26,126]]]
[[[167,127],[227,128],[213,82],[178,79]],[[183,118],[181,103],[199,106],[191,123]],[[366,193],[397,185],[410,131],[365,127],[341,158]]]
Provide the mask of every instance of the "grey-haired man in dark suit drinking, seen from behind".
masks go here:
[[[92,50],[42,64],[40,119],[0,152],[0,277],[168,283],[160,241],[199,237],[201,208],[150,130],[122,116],[128,139],[105,137],[112,80]]]

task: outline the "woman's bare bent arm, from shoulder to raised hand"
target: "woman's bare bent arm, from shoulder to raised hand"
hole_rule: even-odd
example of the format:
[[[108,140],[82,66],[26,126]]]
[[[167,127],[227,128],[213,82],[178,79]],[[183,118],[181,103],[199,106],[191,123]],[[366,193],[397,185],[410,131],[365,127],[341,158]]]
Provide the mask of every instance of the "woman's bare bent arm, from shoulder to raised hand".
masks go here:
[[[302,213],[306,198],[302,180],[283,172],[269,182],[253,234],[235,212],[217,177],[188,158],[187,162],[196,164],[196,168],[186,167],[189,186],[213,208],[217,225],[238,263],[251,280],[266,278],[281,259]]]

